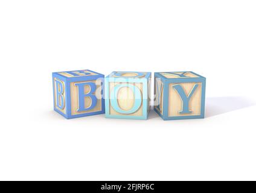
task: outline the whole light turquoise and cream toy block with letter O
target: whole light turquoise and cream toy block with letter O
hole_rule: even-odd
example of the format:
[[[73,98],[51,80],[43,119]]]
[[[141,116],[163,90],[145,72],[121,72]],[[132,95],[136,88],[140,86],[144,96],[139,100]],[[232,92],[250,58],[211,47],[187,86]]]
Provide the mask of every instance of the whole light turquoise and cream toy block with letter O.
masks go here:
[[[105,78],[106,118],[147,119],[151,72],[112,72]]]

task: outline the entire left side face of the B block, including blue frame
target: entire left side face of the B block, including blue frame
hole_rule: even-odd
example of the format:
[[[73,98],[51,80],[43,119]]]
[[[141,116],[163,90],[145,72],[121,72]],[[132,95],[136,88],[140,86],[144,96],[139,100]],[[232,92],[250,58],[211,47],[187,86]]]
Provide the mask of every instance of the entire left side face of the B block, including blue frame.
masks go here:
[[[67,116],[66,79],[53,73],[53,105],[54,110]]]

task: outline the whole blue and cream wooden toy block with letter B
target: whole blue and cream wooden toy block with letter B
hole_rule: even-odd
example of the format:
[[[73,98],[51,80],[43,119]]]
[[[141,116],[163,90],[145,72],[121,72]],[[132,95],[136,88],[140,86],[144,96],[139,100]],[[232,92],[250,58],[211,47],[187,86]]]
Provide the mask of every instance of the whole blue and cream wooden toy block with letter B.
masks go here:
[[[104,75],[89,70],[53,72],[54,110],[67,119],[105,112]]]

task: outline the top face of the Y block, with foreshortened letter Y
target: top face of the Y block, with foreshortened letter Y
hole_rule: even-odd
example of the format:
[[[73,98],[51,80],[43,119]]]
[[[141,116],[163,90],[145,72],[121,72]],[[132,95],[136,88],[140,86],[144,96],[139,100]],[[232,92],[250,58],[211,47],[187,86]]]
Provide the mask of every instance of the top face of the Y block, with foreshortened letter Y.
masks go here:
[[[199,74],[196,74],[191,71],[183,72],[156,72],[156,74],[161,75],[164,79],[177,79],[177,78],[204,78]]]

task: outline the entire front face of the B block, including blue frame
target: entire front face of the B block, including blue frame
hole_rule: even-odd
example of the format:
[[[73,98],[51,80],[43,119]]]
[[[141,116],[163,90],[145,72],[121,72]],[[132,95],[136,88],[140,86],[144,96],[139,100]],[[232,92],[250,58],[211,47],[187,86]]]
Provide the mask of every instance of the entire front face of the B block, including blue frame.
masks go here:
[[[69,118],[104,113],[104,79],[71,81],[68,83]]]

